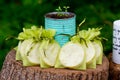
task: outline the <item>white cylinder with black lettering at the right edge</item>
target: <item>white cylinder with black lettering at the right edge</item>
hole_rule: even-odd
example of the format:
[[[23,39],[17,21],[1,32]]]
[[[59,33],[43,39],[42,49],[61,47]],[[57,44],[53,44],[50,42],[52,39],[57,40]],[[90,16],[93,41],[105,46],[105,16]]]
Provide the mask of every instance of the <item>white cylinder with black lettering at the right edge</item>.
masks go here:
[[[113,62],[120,64],[120,20],[113,22]]]

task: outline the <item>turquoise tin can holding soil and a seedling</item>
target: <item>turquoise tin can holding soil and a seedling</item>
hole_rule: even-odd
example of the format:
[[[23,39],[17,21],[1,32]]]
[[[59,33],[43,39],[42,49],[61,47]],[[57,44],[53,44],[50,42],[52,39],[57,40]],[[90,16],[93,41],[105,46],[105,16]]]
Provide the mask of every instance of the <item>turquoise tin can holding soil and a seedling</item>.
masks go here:
[[[57,12],[51,12],[46,15],[56,14]],[[71,12],[63,12],[72,14],[72,17],[58,19],[58,18],[51,18],[45,15],[45,29],[54,29],[56,30],[55,40],[63,46],[67,43],[70,39],[67,35],[75,35],[76,33],[76,15]]]

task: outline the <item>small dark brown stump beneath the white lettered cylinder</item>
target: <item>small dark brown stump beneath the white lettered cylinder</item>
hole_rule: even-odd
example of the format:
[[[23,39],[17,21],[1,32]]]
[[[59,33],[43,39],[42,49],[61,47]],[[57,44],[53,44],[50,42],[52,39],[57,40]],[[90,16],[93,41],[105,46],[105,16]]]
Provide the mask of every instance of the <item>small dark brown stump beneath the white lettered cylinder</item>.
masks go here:
[[[109,55],[109,62],[110,62],[109,80],[120,80],[120,64],[116,64],[112,61],[112,53]]]

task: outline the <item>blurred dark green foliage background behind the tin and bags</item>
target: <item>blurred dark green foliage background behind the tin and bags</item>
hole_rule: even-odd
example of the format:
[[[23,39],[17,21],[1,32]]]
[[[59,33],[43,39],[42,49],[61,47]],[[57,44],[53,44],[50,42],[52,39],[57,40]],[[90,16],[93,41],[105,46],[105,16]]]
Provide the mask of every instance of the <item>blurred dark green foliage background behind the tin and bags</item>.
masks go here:
[[[0,0],[0,69],[7,53],[17,45],[14,37],[22,28],[44,26],[44,15],[58,6],[70,6],[68,11],[77,15],[77,25],[86,18],[80,29],[102,27],[102,36],[108,39],[104,53],[112,52],[112,25],[120,19],[119,0]]]

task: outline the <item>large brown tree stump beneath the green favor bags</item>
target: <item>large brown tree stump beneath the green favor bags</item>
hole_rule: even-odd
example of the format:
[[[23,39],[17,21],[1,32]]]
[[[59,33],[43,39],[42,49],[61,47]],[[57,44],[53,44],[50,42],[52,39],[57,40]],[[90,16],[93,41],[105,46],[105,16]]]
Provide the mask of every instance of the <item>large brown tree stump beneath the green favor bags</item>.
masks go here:
[[[16,51],[11,50],[3,63],[0,80],[108,80],[109,61],[104,56],[103,64],[96,69],[41,69],[39,66],[25,67],[15,60]]]

